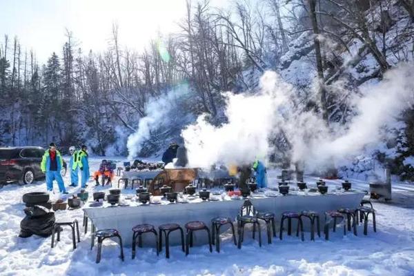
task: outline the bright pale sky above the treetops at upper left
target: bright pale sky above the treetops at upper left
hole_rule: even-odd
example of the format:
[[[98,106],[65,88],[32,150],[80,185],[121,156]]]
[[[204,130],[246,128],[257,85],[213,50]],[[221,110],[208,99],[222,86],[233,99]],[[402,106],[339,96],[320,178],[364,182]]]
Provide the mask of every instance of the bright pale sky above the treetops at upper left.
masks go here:
[[[10,40],[17,36],[23,49],[32,48],[44,62],[54,51],[61,55],[66,28],[86,53],[108,48],[112,23],[117,22],[119,42],[141,50],[159,32],[179,30],[185,14],[185,0],[0,0],[0,42],[3,34]]]

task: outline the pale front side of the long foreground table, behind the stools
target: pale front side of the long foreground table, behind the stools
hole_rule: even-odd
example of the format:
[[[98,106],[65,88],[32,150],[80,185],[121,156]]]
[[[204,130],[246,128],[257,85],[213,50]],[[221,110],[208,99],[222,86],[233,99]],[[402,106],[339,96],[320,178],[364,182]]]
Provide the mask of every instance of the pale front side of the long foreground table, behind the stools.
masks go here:
[[[338,194],[320,195],[319,193],[299,192],[297,195],[279,195],[277,197],[250,197],[255,208],[259,211],[269,211],[276,215],[276,225],[284,211],[315,210],[321,216],[321,229],[324,223],[324,212],[338,208],[357,208],[365,193],[359,191]],[[243,199],[230,199],[226,196],[220,201],[204,201],[196,199],[194,203],[168,204],[164,201],[159,205],[142,205],[136,201],[130,201],[130,206],[110,207],[104,204],[102,207],[83,208],[86,215],[95,225],[96,229],[115,228],[126,246],[132,241],[132,227],[137,224],[152,224],[157,230],[160,224],[177,223],[184,229],[188,221],[204,221],[210,227],[210,219],[217,216],[235,218],[243,204]],[[88,204],[86,204],[88,206]],[[294,224],[295,225],[295,224]],[[304,228],[308,228],[308,219],[304,219]],[[184,229],[185,230],[185,229]],[[264,232],[264,231],[262,231]],[[195,233],[195,242],[206,242],[204,233]],[[266,235],[266,233],[262,233]],[[144,235],[144,246],[153,245],[153,237]],[[179,231],[171,233],[170,244],[179,244]],[[146,241],[148,240],[148,241]],[[197,242],[198,240],[198,242]]]

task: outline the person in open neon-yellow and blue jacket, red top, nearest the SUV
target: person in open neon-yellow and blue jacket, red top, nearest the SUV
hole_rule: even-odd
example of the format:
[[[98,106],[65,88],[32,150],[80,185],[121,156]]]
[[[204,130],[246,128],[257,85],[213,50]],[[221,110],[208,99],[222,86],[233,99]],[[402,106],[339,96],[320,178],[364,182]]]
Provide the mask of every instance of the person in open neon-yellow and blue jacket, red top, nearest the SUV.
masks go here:
[[[61,176],[61,168],[63,166],[63,159],[59,150],[56,149],[55,143],[50,143],[49,149],[45,151],[41,159],[40,168],[46,175],[46,185],[48,190],[53,190],[53,180],[57,181],[60,193],[67,194],[65,184]]]

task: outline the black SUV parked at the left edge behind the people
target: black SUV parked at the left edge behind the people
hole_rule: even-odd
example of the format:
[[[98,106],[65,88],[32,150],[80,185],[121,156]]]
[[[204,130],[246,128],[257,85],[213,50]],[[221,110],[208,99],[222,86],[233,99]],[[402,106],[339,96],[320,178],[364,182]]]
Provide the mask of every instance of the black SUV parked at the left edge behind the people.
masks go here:
[[[31,184],[44,177],[41,171],[41,157],[45,149],[34,146],[0,147],[0,185],[9,181]],[[63,160],[61,175],[66,175],[66,162]]]

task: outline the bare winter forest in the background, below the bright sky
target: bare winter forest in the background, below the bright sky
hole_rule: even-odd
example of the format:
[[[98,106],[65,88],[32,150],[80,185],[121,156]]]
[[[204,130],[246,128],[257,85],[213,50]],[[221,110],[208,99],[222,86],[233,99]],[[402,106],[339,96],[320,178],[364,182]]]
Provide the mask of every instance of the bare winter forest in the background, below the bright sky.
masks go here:
[[[255,76],[264,70],[283,70],[282,57],[304,32],[315,34],[314,51],[306,55],[315,61],[320,96],[308,106],[335,119],[340,100],[329,95],[328,86],[350,63],[359,62],[340,57],[349,51],[349,41],[361,42],[359,57],[370,53],[375,58],[378,70],[372,77],[393,66],[385,34],[395,23],[388,14],[395,5],[414,20],[414,0],[245,0],[235,1],[228,11],[188,0],[181,31],[149,41],[141,52],[121,44],[121,27],[114,23],[105,52],[85,52],[67,30],[61,52],[51,53],[45,64],[18,37],[5,35],[0,45],[0,145],[55,141],[64,148],[88,142],[95,153],[105,155],[119,138],[117,131],[128,135],[136,130],[149,99],[183,82],[194,91],[188,112],[206,112],[219,120],[220,92],[253,89]],[[401,30],[400,37],[413,37],[410,32]],[[334,48],[329,41],[335,41]],[[407,49],[406,55],[412,59],[413,52]]]

